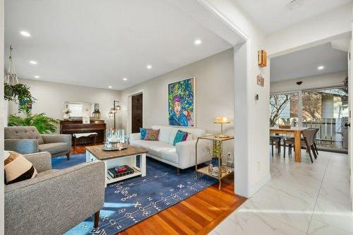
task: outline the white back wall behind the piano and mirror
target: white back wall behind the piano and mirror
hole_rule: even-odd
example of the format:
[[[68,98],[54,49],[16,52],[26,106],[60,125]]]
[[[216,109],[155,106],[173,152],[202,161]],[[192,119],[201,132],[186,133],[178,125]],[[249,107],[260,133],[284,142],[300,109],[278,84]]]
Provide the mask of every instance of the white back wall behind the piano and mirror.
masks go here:
[[[113,100],[119,100],[120,98],[120,92],[117,90],[88,88],[28,79],[20,79],[20,83],[29,85],[33,97],[37,99],[35,104],[33,104],[32,113],[34,114],[44,112],[54,119],[63,119],[62,111],[66,101],[92,102],[100,104],[101,119],[106,121],[107,128],[114,125],[113,120],[108,118],[108,113],[113,106]],[[18,113],[18,106],[11,102],[8,113]]]

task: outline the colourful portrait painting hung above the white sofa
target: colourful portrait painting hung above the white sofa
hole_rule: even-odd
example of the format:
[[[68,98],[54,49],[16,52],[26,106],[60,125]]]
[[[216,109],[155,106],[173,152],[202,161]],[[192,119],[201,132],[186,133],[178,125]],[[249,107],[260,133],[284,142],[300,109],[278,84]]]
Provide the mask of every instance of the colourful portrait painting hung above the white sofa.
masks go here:
[[[195,82],[196,78],[188,78],[168,85],[170,126],[196,126]]]

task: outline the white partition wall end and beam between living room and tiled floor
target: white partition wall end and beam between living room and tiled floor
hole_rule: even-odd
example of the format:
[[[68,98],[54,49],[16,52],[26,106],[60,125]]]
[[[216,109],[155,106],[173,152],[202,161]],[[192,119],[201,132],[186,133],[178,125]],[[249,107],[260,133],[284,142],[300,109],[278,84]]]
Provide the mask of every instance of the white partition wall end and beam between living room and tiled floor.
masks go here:
[[[210,11],[224,19],[246,44],[234,46],[235,79],[235,191],[251,196],[270,179],[268,146],[268,103],[270,97],[269,65],[257,64],[259,49],[266,49],[265,35],[235,0],[203,0]],[[246,62],[244,61],[246,59]],[[241,66],[239,66],[241,64]],[[264,87],[256,76],[265,77]],[[258,94],[260,100],[255,101]],[[255,147],[256,146],[256,147]]]

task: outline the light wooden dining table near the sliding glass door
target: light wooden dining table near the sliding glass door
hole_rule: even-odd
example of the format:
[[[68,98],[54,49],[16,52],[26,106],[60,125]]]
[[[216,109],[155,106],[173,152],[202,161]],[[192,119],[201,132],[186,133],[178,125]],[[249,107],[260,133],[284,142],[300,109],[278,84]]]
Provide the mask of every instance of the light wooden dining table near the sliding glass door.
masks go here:
[[[294,156],[295,162],[301,162],[301,133],[308,129],[307,127],[292,126],[291,128],[270,127],[270,133],[275,135],[285,134],[294,135]],[[280,147],[280,146],[279,146]]]

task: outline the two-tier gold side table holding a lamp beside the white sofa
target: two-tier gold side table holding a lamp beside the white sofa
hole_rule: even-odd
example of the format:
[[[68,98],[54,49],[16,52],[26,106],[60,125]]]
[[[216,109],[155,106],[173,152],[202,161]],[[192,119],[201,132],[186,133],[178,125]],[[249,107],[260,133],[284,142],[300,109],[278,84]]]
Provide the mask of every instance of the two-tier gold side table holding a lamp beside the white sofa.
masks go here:
[[[227,140],[233,140],[234,136],[228,136],[227,138],[219,138],[217,137],[217,135],[205,135],[205,136],[200,136],[198,137],[198,140],[212,140],[213,141],[213,147],[215,145],[220,145],[220,149],[222,150],[222,143],[224,141]],[[222,183],[222,179],[225,178],[225,176],[228,176],[229,174],[234,173],[234,165],[232,167],[228,166],[228,162],[227,164],[221,164],[222,162],[222,151],[220,151],[219,154],[217,154],[217,156],[213,156],[213,158],[217,158],[218,159],[218,172],[214,173],[214,172],[210,172],[209,171],[209,165],[207,165],[206,167],[201,167],[198,169],[198,140],[196,141],[196,145],[195,145],[195,171],[196,171],[196,177],[197,177],[197,173],[202,173],[205,174],[207,176],[213,177],[215,179],[217,179],[219,181],[219,186],[218,189],[221,188],[221,183]],[[233,159],[234,162],[234,159]]]

